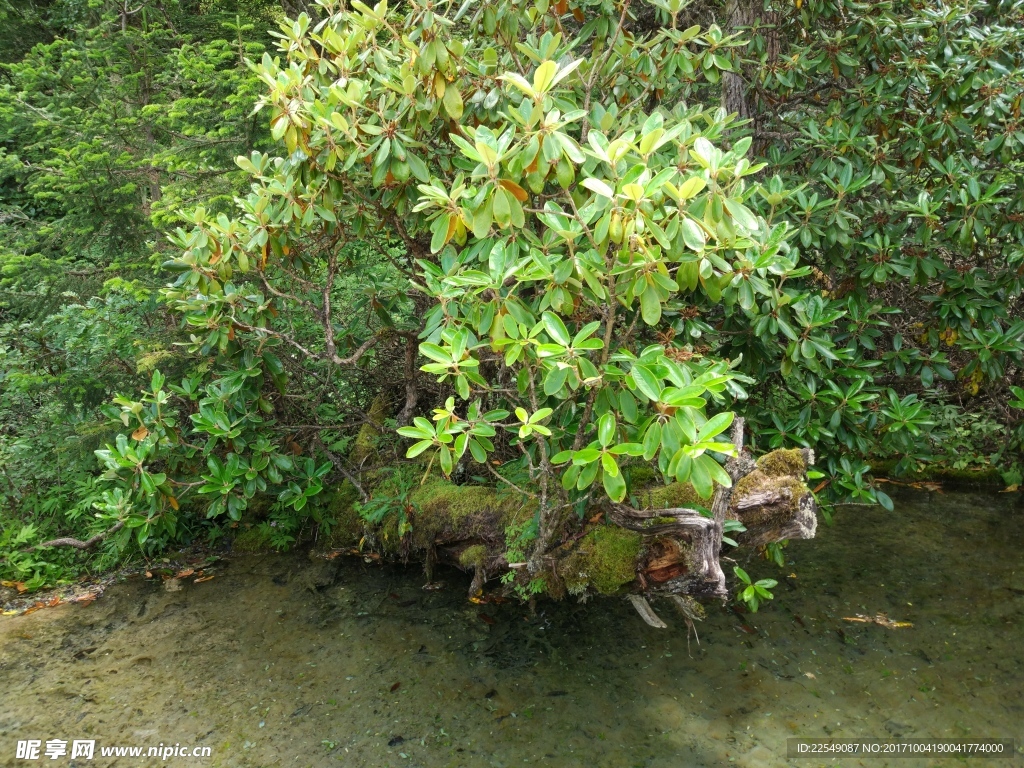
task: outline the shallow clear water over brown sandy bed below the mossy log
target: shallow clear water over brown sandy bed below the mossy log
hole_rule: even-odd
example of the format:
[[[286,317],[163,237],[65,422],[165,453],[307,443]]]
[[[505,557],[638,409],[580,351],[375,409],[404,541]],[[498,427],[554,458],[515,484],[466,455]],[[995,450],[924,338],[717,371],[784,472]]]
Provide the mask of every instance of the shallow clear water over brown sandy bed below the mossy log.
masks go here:
[[[699,646],[664,603],[669,630],[620,599],[531,615],[466,602],[456,571],[426,592],[417,568],[358,559],[319,591],[300,555],[232,557],[175,592],[129,580],[0,621],[0,765],[33,764],[18,739],[85,737],[213,748],[169,765],[760,767],[829,735],[1015,738],[982,764],[1024,765],[1022,523],[1018,495],[842,508],[783,571],[742,563],[779,580],[774,603],[709,610]],[[879,612],[913,627],[843,621]]]

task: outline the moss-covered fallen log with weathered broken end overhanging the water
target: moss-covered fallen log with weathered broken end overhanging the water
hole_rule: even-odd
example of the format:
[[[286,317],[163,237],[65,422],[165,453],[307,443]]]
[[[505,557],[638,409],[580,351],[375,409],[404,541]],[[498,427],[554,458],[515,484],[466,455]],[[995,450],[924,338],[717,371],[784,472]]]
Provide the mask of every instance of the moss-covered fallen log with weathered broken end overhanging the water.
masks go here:
[[[708,504],[688,483],[642,487],[633,498],[637,507],[607,503],[575,515],[545,555],[545,568],[530,573],[525,554],[508,541],[529,521],[537,502],[517,492],[483,485],[458,485],[430,477],[406,498],[412,531],[398,536],[394,515],[376,526],[341,519],[343,531],[334,546],[351,546],[357,534],[362,551],[403,560],[420,560],[431,578],[436,563],[472,574],[470,595],[505,575],[507,589],[525,588],[554,598],[591,594],[682,595],[724,597],[725,573],[720,564],[725,521],[735,519],[746,530],[733,534],[741,547],[761,547],[785,539],[810,539],[816,528],[814,497],[806,485],[813,462],[809,450],[773,451],[755,461],[742,450],[742,420],[732,439],[740,447],[726,463],[732,486],[717,486]],[[639,474],[639,473],[638,473]],[[376,494],[392,494],[384,479]],[[351,509],[346,514],[353,515]],[[344,517],[341,515],[340,517]],[[509,562],[510,550],[521,562]],[[509,578],[506,574],[513,573]],[[641,615],[643,611],[641,611]],[[656,626],[656,625],[655,625]]]

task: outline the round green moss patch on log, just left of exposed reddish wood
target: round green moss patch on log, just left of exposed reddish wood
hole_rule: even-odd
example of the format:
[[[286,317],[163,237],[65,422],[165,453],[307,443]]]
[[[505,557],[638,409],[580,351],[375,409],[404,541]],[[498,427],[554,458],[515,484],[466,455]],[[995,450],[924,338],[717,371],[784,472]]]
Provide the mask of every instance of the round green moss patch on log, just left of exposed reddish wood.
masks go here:
[[[614,525],[594,528],[559,563],[558,573],[573,595],[593,587],[610,595],[636,579],[643,537]]]

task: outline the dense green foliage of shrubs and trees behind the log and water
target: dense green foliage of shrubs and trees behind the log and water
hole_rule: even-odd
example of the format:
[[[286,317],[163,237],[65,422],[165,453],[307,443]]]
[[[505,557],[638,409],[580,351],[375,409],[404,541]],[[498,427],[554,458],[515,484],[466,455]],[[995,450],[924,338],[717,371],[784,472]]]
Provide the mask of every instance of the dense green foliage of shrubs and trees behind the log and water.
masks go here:
[[[536,498],[539,569],[728,483],[733,414],[831,499],[1020,482],[1024,3],[127,10],[3,11],[5,574],[287,546],[406,461]]]

